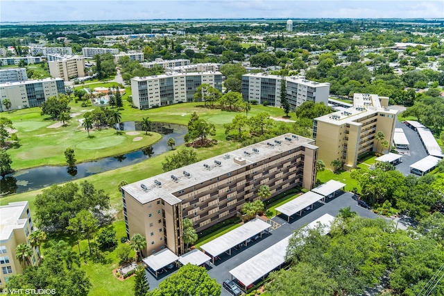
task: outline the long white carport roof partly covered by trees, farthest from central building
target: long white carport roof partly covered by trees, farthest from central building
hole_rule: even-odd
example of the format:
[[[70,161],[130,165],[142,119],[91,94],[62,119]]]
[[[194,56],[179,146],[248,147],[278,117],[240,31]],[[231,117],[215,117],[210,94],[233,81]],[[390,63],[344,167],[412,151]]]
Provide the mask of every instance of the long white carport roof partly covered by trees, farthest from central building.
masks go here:
[[[304,229],[312,229],[316,227],[316,224],[319,222],[326,225],[326,232],[328,233],[333,220],[334,217],[332,215],[325,214],[308,224]],[[237,268],[230,270],[230,274],[242,283],[244,288],[250,286],[258,279],[265,277],[268,273],[285,263],[285,254],[287,253],[287,246],[289,245],[291,236],[293,236],[293,234],[280,240],[256,256],[253,256],[248,261],[237,266]]]

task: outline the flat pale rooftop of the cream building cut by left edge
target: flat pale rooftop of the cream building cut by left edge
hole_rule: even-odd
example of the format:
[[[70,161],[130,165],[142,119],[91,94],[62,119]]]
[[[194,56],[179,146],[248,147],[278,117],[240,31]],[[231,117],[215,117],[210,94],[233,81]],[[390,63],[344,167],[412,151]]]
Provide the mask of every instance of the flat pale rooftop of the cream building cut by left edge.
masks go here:
[[[26,219],[20,219],[28,202],[11,202],[0,206],[0,240],[8,240],[14,229],[23,228]]]

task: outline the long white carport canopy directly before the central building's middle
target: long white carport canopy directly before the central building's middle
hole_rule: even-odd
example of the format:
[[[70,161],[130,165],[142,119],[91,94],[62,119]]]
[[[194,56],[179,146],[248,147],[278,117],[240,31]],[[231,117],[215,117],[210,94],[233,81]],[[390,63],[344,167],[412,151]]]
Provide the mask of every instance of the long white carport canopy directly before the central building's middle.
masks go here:
[[[262,231],[265,231],[270,227],[271,225],[267,222],[256,218],[237,229],[225,233],[223,236],[219,236],[219,238],[214,238],[214,240],[201,245],[200,249],[203,249],[205,253],[210,254],[214,261],[214,257],[223,252],[229,251],[229,254],[231,255],[232,247],[246,242],[246,240],[259,233],[262,235]]]

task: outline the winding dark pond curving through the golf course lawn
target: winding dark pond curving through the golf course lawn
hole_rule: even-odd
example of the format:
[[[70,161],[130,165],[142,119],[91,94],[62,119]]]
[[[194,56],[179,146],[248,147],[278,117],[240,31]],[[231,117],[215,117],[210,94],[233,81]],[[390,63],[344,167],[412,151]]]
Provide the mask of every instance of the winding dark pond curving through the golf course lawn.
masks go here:
[[[142,131],[139,122],[121,122],[119,129],[122,131]],[[151,131],[168,136],[162,136],[159,142],[144,149],[139,149],[127,154],[101,158],[96,161],[79,163],[76,167],[45,165],[7,174],[0,179],[0,195],[36,190],[51,186],[52,184],[73,181],[84,178],[85,176],[140,163],[146,158],[169,151],[170,147],[167,145],[169,138],[173,138],[176,141],[176,146],[182,145],[184,143],[183,137],[187,133],[187,126],[152,122]]]

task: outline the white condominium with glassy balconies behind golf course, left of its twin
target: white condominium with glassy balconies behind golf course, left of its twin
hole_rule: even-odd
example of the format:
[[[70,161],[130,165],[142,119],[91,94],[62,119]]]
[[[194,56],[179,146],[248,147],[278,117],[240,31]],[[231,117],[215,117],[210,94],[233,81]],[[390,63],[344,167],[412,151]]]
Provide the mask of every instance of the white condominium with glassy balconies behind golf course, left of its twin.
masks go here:
[[[207,83],[222,91],[221,72],[167,73],[131,79],[133,104],[139,109],[194,100],[199,85]]]

